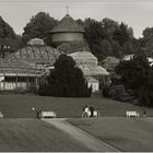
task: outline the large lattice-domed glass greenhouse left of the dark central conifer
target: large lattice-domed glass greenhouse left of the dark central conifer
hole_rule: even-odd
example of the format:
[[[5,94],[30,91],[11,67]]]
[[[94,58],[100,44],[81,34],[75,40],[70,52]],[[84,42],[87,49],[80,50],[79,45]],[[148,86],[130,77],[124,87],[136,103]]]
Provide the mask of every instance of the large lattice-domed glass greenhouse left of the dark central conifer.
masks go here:
[[[59,51],[46,45],[27,45],[0,58],[0,92],[35,92],[40,76],[52,67]]]

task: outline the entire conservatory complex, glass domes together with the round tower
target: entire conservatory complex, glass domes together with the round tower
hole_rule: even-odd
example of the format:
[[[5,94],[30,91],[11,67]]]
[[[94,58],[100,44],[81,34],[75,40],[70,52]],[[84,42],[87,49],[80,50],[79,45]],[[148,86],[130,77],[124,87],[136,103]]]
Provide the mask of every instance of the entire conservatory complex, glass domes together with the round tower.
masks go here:
[[[109,73],[98,66],[97,58],[86,47],[83,27],[69,14],[50,34],[50,42],[56,44],[57,48],[45,45],[43,39],[33,38],[24,48],[0,58],[0,93],[37,91],[39,82],[44,81],[43,76],[54,69],[54,63],[62,50],[74,59],[93,92],[102,90],[108,83]],[[67,48],[68,52],[64,51]]]

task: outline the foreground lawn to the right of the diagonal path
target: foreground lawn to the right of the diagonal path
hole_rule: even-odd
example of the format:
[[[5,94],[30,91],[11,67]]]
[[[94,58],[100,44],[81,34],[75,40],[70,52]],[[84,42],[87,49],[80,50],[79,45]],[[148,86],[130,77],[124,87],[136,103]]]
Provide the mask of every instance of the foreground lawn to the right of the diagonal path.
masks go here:
[[[152,117],[75,118],[68,121],[120,151],[153,152]]]

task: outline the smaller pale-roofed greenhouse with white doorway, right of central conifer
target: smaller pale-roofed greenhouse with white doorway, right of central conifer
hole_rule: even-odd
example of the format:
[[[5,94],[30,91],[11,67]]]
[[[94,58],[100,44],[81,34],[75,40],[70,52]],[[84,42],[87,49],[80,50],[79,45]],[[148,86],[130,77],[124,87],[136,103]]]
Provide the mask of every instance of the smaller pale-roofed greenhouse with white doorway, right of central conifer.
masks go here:
[[[98,66],[98,60],[92,52],[78,51],[69,56],[74,59],[76,66],[82,70],[89,86],[93,86],[93,92],[103,90],[105,85],[109,84],[109,72]]]

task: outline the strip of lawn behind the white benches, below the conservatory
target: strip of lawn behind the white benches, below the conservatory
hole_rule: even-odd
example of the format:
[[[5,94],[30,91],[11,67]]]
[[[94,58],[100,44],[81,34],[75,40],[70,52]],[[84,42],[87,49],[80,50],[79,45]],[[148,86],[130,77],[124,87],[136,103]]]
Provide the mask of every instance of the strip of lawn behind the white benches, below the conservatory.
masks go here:
[[[54,110],[57,117],[79,118],[82,106],[94,106],[101,108],[104,117],[122,117],[126,110],[137,110],[142,115],[142,107],[121,103],[103,97],[66,98],[43,97],[38,95],[0,95],[0,110],[5,118],[35,118],[34,106],[40,110]],[[153,116],[152,108],[145,108],[148,116]]]

